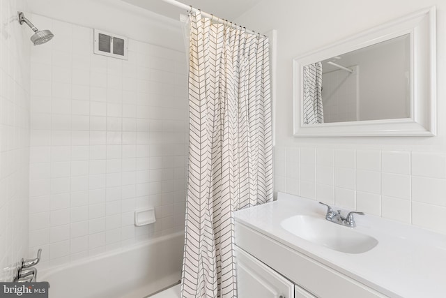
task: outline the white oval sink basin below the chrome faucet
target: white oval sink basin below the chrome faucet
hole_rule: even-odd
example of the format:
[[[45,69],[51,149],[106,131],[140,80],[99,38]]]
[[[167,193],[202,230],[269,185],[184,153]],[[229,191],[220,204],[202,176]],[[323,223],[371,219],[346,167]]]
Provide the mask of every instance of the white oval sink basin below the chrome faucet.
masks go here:
[[[342,253],[365,253],[378,244],[374,237],[330,223],[325,218],[296,215],[284,219],[280,225],[302,239]]]

